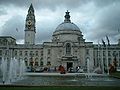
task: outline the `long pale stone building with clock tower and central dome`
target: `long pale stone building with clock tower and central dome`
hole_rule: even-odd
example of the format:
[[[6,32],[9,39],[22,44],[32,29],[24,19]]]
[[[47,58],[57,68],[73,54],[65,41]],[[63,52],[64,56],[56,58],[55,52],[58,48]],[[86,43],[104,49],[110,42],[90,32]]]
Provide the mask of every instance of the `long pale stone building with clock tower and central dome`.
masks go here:
[[[93,42],[85,42],[82,32],[77,25],[70,20],[69,12],[65,14],[65,20],[57,26],[53,32],[51,42],[35,44],[35,15],[31,4],[25,23],[25,43],[17,44],[12,36],[0,37],[0,60],[2,57],[10,60],[15,57],[24,60],[26,66],[35,67],[58,67],[63,65],[66,70],[70,67],[87,67],[90,61],[90,70],[101,66],[102,60],[106,65],[111,64],[116,58],[120,66],[120,43],[106,48]],[[106,53],[108,54],[106,58]]]

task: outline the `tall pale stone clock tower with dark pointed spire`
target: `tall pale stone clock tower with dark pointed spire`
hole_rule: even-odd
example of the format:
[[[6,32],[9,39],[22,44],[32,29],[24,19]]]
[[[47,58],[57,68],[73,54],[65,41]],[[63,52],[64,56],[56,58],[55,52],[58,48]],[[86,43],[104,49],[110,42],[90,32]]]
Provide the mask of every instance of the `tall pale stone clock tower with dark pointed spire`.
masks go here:
[[[25,22],[25,44],[27,45],[35,44],[35,33],[36,33],[35,15],[33,5],[31,4],[28,9],[28,14]]]

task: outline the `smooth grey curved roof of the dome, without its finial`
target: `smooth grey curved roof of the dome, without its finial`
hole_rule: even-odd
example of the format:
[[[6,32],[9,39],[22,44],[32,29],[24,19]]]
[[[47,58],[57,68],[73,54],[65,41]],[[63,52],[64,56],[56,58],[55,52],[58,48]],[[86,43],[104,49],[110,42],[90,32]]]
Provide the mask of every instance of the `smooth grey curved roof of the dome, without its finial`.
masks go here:
[[[60,25],[58,25],[58,27],[56,28],[56,31],[59,30],[79,30],[79,27],[77,25],[75,25],[74,23],[71,22],[63,22]]]

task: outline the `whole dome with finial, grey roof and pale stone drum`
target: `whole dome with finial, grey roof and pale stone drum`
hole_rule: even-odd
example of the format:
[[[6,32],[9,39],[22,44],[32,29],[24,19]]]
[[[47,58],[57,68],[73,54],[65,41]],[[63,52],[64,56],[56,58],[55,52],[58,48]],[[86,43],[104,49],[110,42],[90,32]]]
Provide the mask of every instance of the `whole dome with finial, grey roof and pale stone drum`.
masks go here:
[[[71,22],[69,12],[66,12],[65,20],[57,26],[53,32],[53,42],[84,42],[82,32],[79,27]]]

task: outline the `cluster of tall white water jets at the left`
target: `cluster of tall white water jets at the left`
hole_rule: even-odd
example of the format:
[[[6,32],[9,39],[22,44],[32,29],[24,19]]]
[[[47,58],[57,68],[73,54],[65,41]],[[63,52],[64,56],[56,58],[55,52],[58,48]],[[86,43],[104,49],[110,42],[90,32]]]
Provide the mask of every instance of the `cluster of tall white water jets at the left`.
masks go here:
[[[16,82],[17,80],[23,79],[23,75],[26,69],[24,61],[18,61],[15,58],[11,58],[9,65],[7,63],[7,60],[2,58],[1,70],[3,84],[10,84],[12,82]]]

